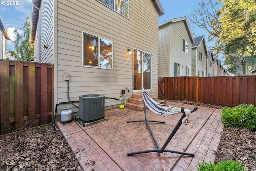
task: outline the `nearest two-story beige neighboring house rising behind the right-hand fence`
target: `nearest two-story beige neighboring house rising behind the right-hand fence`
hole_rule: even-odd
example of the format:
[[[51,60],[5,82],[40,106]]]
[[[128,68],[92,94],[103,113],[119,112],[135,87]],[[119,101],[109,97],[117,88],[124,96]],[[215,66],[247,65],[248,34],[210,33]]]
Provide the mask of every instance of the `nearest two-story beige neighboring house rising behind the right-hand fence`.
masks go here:
[[[194,39],[186,17],[159,25],[158,74],[161,77],[191,76],[191,47]]]

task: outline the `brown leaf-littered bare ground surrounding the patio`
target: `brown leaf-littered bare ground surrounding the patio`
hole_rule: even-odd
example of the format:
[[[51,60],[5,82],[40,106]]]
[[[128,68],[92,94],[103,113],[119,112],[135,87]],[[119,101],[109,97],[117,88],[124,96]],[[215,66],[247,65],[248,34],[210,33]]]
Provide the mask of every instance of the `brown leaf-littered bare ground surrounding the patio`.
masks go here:
[[[203,103],[179,102],[220,108]],[[81,170],[75,153],[57,126],[44,125],[0,137],[0,170]],[[224,127],[215,163],[223,159],[238,159],[247,170],[256,170],[256,133]]]

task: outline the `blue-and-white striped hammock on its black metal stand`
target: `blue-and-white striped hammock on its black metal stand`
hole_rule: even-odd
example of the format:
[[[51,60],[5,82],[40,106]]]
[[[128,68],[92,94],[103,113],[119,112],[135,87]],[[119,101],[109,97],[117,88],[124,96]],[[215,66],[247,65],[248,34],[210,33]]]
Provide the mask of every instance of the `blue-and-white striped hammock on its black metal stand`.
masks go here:
[[[162,121],[152,121],[152,120],[147,120],[147,116],[146,116],[146,105],[145,105],[145,101],[147,102],[147,106],[150,110],[152,110],[154,113],[158,113],[158,111],[152,109],[152,107],[150,107],[150,102],[154,103],[152,105],[154,105],[154,107],[157,107],[158,109],[161,108],[160,105],[163,105],[163,104],[160,104],[160,103],[157,103],[156,101],[154,101],[150,95],[144,91],[144,89],[142,88],[142,96],[143,96],[143,104],[144,104],[144,115],[145,115],[145,120],[138,120],[138,121],[127,121],[127,123],[130,123],[130,122],[145,122],[147,127],[148,127],[148,130],[150,131],[150,134],[154,140],[154,143],[156,145],[156,148],[157,149],[151,149],[151,150],[145,150],[145,151],[136,151],[136,152],[130,152],[130,153],[127,153],[127,155],[135,155],[135,154],[142,154],[142,153],[151,153],[151,152],[158,152],[158,153],[163,153],[163,152],[169,152],[169,153],[177,153],[177,154],[182,154],[182,155],[189,155],[189,156],[194,156],[193,153],[185,153],[185,152],[182,152],[182,151],[173,151],[173,150],[166,150],[166,146],[168,145],[168,143],[171,141],[172,137],[175,135],[175,133],[178,131],[178,129],[180,128],[180,125],[182,124],[182,120],[186,117],[186,113],[185,113],[185,109],[184,107],[181,108],[180,112],[183,113],[183,115],[180,117],[180,120],[178,121],[178,123],[176,124],[176,126],[174,127],[174,129],[172,130],[172,132],[170,133],[168,139],[165,141],[164,145],[162,146],[162,148],[159,147],[155,137],[154,137],[154,134],[152,133],[151,129],[150,129],[150,126],[148,124],[148,122],[157,122],[157,123],[165,123],[165,122],[162,122]],[[149,99],[149,100],[148,100]],[[163,105],[163,106],[169,106],[169,105]],[[170,106],[169,106],[170,107]],[[198,109],[198,107],[194,107],[194,109],[192,109],[190,112],[194,112]]]

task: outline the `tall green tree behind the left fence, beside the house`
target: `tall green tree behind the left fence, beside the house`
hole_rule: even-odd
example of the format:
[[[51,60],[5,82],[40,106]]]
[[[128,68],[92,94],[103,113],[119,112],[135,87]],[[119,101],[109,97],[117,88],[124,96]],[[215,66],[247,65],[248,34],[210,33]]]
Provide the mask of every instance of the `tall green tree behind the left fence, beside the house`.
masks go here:
[[[12,42],[15,50],[9,50],[8,53],[15,60],[31,61],[34,58],[34,45],[30,44],[30,26],[29,17],[26,17],[26,22],[22,25],[22,28],[14,29],[16,40]],[[22,34],[19,32],[22,32]]]

